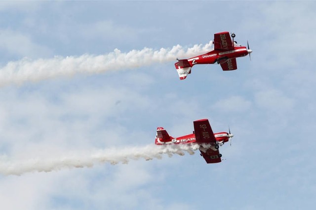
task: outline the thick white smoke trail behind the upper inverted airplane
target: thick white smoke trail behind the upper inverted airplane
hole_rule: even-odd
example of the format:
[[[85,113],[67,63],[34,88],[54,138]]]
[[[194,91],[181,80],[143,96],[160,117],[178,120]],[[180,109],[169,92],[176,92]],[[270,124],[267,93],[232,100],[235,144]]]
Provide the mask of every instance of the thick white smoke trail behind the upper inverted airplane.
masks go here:
[[[118,49],[105,55],[82,55],[79,57],[54,57],[52,59],[22,60],[8,62],[0,68],[0,87],[21,85],[27,81],[40,81],[77,73],[101,73],[109,70],[137,68],[154,63],[169,62],[176,58],[188,58],[211,50],[212,42],[202,46],[183,48],[180,45],[171,49],[151,48],[122,53]],[[173,69],[173,66],[170,66]]]

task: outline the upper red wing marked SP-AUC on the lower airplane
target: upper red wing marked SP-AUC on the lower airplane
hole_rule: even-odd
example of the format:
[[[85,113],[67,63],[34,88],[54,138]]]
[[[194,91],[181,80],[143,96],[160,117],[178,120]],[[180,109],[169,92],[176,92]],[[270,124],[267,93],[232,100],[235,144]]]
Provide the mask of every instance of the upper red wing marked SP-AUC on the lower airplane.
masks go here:
[[[211,125],[207,119],[196,120],[193,122],[194,133],[196,134],[196,141],[198,144],[215,143],[216,139],[212,131]]]

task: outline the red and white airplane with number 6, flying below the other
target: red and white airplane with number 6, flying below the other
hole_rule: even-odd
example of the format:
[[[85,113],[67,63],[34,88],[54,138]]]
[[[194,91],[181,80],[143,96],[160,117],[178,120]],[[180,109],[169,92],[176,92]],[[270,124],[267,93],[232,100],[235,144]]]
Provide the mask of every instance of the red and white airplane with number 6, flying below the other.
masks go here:
[[[193,121],[193,124],[194,131],[192,134],[188,134],[178,138],[173,138],[172,136],[169,136],[164,128],[158,127],[155,144],[169,145],[196,143],[200,145],[200,155],[203,156],[206,163],[221,162],[222,154],[219,153],[219,146],[222,146],[225,142],[228,142],[234,135],[231,134],[230,130],[229,133],[213,133],[207,119]]]

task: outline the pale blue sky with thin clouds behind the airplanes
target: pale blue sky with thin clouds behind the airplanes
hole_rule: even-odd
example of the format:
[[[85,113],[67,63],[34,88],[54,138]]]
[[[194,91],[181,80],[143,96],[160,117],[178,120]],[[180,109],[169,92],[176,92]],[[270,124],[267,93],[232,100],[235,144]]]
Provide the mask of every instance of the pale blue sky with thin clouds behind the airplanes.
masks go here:
[[[144,147],[158,126],[180,136],[202,118],[235,135],[220,164],[196,152],[1,175],[2,209],[314,209],[315,9],[314,1],[0,2],[0,72],[25,58],[204,45],[220,31],[253,50],[236,71],[196,65],[184,81],[174,60],[1,87],[1,164]]]

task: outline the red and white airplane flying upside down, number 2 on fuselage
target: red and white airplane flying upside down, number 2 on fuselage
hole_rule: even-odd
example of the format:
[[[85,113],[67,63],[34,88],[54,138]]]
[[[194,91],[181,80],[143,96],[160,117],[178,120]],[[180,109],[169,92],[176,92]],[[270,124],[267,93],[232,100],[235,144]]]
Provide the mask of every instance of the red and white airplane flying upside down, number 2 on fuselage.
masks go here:
[[[249,55],[250,57],[250,53],[252,53],[252,50],[249,49],[248,41],[248,49],[241,45],[237,45],[237,42],[234,41],[235,36],[235,33],[232,33],[232,41],[228,31],[215,33],[213,41],[213,51],[190,59],[178,60],[178,62],[176,62],[174,65],[177,69],[180,80],[184,80],[185,78],[187,78],[188,74],[191,74],[191,68],[195,64],[217,63],[221,64],[221,67],[224,71],[236,70],[236,58],[244,57],[246,55]]]

